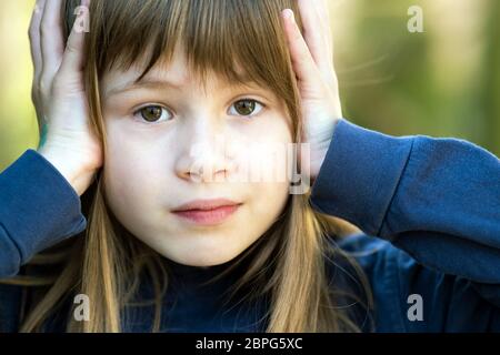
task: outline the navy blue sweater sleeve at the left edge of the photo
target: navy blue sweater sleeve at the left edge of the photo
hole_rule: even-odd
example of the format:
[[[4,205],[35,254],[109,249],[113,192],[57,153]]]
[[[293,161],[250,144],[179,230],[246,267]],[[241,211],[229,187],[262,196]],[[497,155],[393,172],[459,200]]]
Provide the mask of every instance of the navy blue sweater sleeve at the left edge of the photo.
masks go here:
[[[37,151],[0,174],[0,277],[11,277],[37,253],[82,232],[80,199]]]

